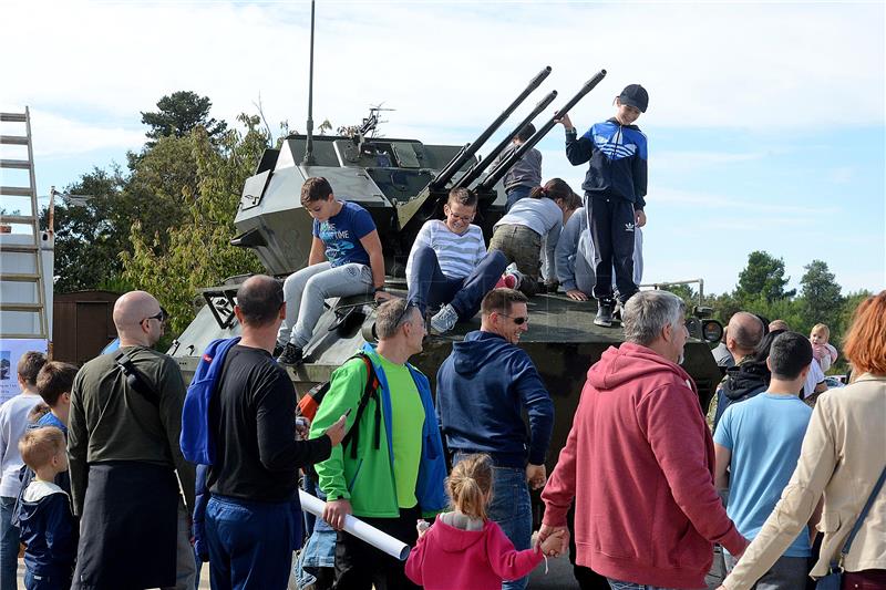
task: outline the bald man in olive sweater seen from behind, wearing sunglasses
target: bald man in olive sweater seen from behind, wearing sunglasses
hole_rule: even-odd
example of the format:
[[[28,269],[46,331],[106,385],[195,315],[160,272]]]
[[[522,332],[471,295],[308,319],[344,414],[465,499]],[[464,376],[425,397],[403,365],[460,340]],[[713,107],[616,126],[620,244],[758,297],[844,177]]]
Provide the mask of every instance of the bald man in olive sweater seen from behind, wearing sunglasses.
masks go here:
[[[74,380],[68,453],[81,538],[72,588],[194,588],[194,466],[178,446],[185,384],[175,361],[152,348],[164,319],[151,293],[125,293],[114,306],[120,350]]]

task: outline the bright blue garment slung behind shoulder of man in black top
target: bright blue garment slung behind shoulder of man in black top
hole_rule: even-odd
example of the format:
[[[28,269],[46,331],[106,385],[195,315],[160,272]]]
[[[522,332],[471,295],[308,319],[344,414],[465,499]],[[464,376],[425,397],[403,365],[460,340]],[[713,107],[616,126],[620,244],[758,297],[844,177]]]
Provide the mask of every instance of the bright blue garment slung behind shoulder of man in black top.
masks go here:
[[[185,459],[197,465],[215,463],[215,441],[209,424],[209,402],[215,394],[225,356],[240,337],[213,340],[204,351],[194,379],[187,387],[182,408],[182,435],[178,443]]]

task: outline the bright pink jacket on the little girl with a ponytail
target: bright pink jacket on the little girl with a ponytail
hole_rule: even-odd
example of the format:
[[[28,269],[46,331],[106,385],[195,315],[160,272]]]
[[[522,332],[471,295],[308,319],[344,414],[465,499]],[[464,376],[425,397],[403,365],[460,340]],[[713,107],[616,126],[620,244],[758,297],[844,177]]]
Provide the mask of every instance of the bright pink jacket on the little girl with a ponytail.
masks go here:
[[[517,551],[492,520],[483,530],[462,530],[440,518],[419,539],[406,560],[406,576],[425,590],[501,590],[544,559],[540,550]]]

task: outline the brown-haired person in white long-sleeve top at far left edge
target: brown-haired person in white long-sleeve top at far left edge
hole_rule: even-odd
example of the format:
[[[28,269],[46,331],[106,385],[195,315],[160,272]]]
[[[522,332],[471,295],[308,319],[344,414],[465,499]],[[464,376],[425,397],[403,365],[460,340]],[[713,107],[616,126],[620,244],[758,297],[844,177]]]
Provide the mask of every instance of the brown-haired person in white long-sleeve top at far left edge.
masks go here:
[[[28,414],[41,402],[37,374],[47,362],[40,352],[25,352],[19,361],[21,393],[0,405],[0,590],[16,590],[19,563],[19,529],[10,522],[19,496],[19,470],[23,465],[19,438],[28,427]]]

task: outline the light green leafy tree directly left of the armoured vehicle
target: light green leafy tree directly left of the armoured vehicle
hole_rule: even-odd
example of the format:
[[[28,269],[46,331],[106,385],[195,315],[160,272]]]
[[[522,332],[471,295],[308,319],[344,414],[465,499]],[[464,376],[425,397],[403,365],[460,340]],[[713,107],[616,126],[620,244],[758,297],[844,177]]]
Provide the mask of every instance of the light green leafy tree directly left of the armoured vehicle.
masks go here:
[[[124,253],[124,279],[154,293],[169,311],[171,330],[179,333],[194,319],[192,301],[197,290],[222,283],[227,277],[260,272],[251,250],[230,245],[234,217],[244,182],[253,174],[268,135],[258,116],[240,115],[245,133],[228,131],[217,144],[203,128],[187,137],[196,163],[196,185],[184,188],[187,210],[184,219],[164,237],[132,228],[132,255]]]

